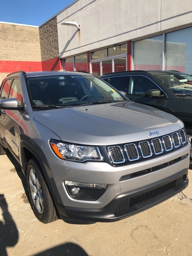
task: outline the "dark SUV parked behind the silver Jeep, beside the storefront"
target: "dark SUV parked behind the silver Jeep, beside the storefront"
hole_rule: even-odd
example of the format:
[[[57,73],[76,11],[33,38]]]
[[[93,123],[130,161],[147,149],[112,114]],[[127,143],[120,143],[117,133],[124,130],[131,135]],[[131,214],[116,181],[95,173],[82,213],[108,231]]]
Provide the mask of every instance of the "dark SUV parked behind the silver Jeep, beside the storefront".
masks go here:
[[[101,77],[135,102],[158,108],[180,118],[192,135],[192,85],[179,72],[124,71]]]

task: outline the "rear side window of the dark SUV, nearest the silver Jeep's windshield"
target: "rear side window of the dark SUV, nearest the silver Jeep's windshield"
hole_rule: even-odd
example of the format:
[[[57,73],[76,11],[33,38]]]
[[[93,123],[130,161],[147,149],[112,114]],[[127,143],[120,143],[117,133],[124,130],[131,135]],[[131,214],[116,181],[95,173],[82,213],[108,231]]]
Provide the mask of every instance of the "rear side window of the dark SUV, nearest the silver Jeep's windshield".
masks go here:
[[[130,76],[110,77],[108,83],[119,91],[126,92],[129,85]]]

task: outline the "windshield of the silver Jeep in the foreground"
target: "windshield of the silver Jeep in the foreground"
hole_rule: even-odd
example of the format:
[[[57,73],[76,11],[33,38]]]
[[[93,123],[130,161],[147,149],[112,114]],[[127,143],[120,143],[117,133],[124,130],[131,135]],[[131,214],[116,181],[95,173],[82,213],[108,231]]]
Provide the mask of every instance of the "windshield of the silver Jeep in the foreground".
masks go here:
[[[121,102],[127,99],[90,74],[27,78],[32,107],[68,107]]]

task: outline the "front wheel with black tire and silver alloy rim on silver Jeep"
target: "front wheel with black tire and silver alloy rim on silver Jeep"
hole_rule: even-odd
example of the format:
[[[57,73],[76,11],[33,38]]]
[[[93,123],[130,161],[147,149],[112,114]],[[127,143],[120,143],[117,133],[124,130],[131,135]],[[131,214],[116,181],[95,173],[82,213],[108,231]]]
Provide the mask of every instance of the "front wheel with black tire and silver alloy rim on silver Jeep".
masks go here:
[[[47,224],[57,220],[58,216],[41,170],[36,158],[29,160],[26,173],[27,186],[30,204],[36,218],[40,222]]]

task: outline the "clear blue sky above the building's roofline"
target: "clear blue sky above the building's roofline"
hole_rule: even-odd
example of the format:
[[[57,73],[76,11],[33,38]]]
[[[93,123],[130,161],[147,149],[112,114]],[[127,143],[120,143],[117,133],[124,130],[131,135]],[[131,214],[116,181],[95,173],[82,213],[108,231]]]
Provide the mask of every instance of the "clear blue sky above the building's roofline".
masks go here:
[[[0,22],[40,26],[74,0],[0,0]]]

